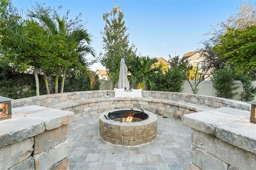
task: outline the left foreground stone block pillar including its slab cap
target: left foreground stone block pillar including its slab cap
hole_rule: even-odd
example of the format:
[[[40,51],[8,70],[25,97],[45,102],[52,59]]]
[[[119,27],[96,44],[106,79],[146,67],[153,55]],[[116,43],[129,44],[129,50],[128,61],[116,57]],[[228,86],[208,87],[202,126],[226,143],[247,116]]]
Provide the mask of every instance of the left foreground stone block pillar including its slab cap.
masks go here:
[[[74,113],[40,106],[12,109],[0,121],[0,169],[68,169],[68,123]]]

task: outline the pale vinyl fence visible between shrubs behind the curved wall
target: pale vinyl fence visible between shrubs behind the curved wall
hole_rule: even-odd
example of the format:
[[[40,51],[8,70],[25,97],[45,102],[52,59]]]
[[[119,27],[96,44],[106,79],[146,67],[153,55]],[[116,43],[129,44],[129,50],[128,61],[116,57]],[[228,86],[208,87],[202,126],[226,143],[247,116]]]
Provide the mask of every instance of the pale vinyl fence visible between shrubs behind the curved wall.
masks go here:
[[[190,81],[190,83],[192,83],[192,85],[193,85],[194,82]],[[233,99],[241,101],[240,94],[243,91],[242,83],[241,83],[241,81],[235,81],[235,83],[236,83],[235,86],[239,87],[236,90],[239,94],[236,95]],[[108,89],[112,89],[112,87],[113,87],[113,83],[110,82],[109,80],[101,80],[101,84],[102,85],[100,86],[100,90],[108,90]],[[118,83],[116,83],[116,85],[115,85],[116,88],[117,88],[117,84]],[[253,81],[252,85],[254,85],[254,87],[256,87],[256,81]],[[134,88],[133,85],[130,86],[130,89],[131,88]],[[190,84],[188,83],[188,81],[185,81],[183,83],[183,87],[182,88],[183,88],[182,93],[193,94],[193,91],[191,90],[191,87],[190,87]],[[199,89],[198,90],[198,95],[216,96],[215,95],[216,90],[213,87],[212,81],[206,81],[206,80],[202,81],[201,83],[199,83],[197,88]],[[253,101],[256,101],[256,97],[254,97]]]

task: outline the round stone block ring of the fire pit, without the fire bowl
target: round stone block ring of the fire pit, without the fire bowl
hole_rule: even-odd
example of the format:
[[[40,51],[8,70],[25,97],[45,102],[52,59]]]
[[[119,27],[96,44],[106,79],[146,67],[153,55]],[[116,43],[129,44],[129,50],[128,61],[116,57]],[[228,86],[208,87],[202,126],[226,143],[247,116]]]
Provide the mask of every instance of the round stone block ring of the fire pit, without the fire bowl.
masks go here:
[[[124,146],[135,146],[151,142],[156,138],[157,117],[154,113],[144,111],[148,119],[136,122],[120,122],[112,120],[108,114],[115,111],[129,109],[116,109],[100,115],[99,132],[106,142]],[[134,109],[134,111],[140,111]]]

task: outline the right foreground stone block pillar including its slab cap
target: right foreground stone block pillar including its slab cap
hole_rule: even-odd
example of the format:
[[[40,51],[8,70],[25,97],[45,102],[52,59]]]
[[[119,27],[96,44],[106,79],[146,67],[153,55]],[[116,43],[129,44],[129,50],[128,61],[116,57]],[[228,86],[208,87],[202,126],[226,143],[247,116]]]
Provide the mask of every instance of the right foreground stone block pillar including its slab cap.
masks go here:
[[[219,108],[184,115],[192,128],[191,170],[253,170],[256,167],[256,124],[250,112]]]

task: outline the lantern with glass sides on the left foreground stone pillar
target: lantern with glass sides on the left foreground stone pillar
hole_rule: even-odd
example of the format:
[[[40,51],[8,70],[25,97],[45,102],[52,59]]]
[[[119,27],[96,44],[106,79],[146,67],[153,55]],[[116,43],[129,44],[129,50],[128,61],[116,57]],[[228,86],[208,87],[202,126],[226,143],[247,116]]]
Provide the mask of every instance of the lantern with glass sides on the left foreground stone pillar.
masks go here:
[[[0,121],[12,118],[12,105],[10,98],[0,96]]]

